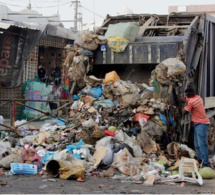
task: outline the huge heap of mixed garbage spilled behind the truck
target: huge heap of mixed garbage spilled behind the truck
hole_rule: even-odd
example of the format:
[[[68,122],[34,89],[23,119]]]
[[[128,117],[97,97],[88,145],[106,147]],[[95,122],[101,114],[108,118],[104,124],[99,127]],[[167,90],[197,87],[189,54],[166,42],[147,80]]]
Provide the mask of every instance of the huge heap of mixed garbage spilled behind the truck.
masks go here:
[[[98,176],[149,186],[170,180],[202,185],[195,151],[174,141],[179,112],[169,104],[170,88],[180,86],[185,69],[177,65],[176,72],[169,61],[152,71],[149,85],[121,80],[115,71],[104,79],[85,76],[69,124],[54,119],[39,130],[20,126],[22,138],[1,133],[0,167],[11,175],[47,173],[78,181]]]

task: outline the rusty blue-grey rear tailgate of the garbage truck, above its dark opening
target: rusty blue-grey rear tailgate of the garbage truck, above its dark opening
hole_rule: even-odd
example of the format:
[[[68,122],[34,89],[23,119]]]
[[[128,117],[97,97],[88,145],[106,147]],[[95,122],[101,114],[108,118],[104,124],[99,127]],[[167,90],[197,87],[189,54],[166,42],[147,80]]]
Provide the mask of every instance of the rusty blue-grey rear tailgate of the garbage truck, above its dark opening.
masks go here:
[[[105,49],[99,48],[94,59],[96,69],[101,66],[105,68],[106,65],[114,65],[116,68],[120,65],[153,67],[181,52],[186,62],[187,74],[194,74],[202,52],[204,15],[108,15],[103,25],[97,29],[97,34],[105,35],[110,25],[128,22],[139,24],[135,41],[129,43],[124,52],[119,53],[112,52],[108,46]],[[123,66],[119,69],[123,70]],[[136,73],[133,73],[135,78]]]

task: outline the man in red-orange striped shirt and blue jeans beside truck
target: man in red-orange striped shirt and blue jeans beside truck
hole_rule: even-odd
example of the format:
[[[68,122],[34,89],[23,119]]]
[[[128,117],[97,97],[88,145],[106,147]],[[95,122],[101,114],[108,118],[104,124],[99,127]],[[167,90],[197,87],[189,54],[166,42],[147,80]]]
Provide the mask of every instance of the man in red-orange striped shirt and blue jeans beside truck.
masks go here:
[[[187,105],[184,112],[191,112],[191,121],[194,122],[194,146],[199,162],[202,167],[209,166],[208,160],[208,129],[210,120],[206,116],[203,99],[195,93],[194,88],[188,87],[185,90]]]

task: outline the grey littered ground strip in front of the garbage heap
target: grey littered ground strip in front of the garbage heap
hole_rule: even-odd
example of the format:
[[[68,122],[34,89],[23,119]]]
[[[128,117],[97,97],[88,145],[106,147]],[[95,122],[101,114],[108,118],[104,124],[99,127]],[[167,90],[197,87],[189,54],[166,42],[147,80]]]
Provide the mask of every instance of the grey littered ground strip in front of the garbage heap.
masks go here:
[[[197,184],[132,184],[112,178],[85,177],[85,182],[62,180],[39,175],[0,176],[1,194],[215,194],[215,179],[204,180],[203,186]]]

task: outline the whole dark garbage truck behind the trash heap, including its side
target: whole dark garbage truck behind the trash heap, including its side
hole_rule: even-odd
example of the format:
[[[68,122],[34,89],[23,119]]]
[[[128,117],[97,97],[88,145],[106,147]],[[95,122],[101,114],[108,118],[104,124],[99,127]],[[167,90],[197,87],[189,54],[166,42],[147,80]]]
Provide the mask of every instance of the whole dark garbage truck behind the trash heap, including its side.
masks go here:
[[[105,36],[111,25],[129,22],[138,23],[139,31],[123,52],[113,52],[108,45],[99,47],[94,56],[93,74],[102,78],[108,71],[116,70],[124,80],[148,83],[156,65],[167,58],[179,57],[186,65],[182,87],[192,82],[203,98],[214,96],[213,86],[207,86],[210,82],[208,79],[214,78],[214,73],[204,68],[208,66],[208,56],[212,56],[208,52],[211,49],[208,40],[214,35],[214,21],[213,16],[205,13],[107,15],[97,34]],[[207,78],[207,74],[210,74],[210,78]],[[207,87],[211,88],[210,92],[205,89]],[[211,111],[214,107],[207,109],[212,122],[208,141],[210,152],[215,151],[215,113]],[[193,143],[193,140],[189,140],[193,137],[190,117],[184,117],[180,123],[180,141]]]

